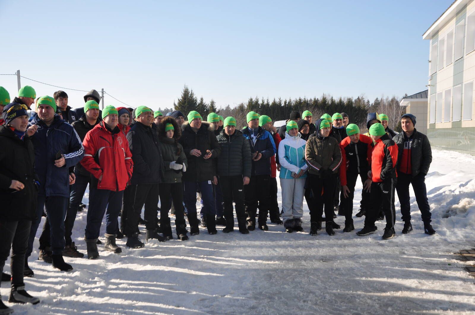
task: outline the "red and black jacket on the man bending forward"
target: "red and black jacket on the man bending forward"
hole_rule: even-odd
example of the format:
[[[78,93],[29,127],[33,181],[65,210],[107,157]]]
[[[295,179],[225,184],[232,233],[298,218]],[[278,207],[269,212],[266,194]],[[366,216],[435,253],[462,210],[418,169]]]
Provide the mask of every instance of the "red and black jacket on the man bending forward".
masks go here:
[[[342,142],[340,142],[340,149],[342,150],[340,182],[344,186],[347,185],[347,172],[353,174],[366,174],[370,170],[373,140],[368,136],[360,134],[360,141],[358,141],[358,143],[353,143],[350,140],[350,137],[346,137]]]

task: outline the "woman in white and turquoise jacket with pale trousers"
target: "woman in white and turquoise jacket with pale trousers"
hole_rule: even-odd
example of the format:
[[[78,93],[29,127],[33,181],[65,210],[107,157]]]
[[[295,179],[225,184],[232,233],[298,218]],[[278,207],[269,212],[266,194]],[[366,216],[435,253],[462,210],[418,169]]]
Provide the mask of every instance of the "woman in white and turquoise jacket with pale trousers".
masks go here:
[[[286,232],[302,232],[304,215],[304,185],[307,177],[305,144],[294,120],[287,123],[285,139],[279,144],[280,187],[282,190],[282,220]]]

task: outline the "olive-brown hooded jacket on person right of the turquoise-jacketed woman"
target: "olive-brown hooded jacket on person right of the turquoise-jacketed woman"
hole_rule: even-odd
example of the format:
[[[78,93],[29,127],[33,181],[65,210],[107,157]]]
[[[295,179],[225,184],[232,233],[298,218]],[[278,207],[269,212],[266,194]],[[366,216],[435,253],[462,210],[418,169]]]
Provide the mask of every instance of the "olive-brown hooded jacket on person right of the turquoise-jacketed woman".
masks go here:
[[[318,126],[314,137],[307,140],[305,146],[305,159],[308,164],[308,172],[322,177],[321,171],[331,169],[333,174],[338,172],[342,164],[342,151],[339,142],[333,137],[322,137],[320,135],[320,123],[322,119],[316,121]]]

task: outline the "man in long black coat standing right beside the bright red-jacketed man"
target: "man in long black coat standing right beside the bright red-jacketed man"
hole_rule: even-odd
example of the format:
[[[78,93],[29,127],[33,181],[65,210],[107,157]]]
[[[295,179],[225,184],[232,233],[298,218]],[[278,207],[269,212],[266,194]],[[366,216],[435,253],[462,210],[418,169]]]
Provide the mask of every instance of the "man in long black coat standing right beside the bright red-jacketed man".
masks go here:
[[[153,123],[153,111],[146,106],[139,106],[135,115],[136,123],[126,135],[132,153],[133,174],[130,190],[124,195],[123,203],[127,218],[124,234],[127,235],[126,245],[130,248],[144,246],[136,233],[144,205],[147,229],[145,241],[149,239],[167,240],[157,231],[159,184],[163,177],[164,166],[155,130],[156,125]]]

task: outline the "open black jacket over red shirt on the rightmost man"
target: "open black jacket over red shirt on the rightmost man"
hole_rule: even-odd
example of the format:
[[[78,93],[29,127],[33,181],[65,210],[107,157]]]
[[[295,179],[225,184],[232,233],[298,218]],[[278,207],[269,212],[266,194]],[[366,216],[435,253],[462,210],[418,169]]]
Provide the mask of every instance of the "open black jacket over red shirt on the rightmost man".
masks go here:
[[[412,133],[412,146],[411,146],[411,168],[412,176],[416,176],[419,173],[424,176],[427,175],[432,163],[432,149],[430,148],[429,139],[423,133],[420,133],[416,129]],[[404,150],[404,142],[408,139],[404,131],[399,132],[393,141],[398,145],[398,162],[401,161],[401,156]],[[398,168],[399,170],[399,163]]]

